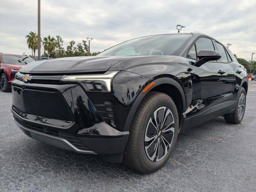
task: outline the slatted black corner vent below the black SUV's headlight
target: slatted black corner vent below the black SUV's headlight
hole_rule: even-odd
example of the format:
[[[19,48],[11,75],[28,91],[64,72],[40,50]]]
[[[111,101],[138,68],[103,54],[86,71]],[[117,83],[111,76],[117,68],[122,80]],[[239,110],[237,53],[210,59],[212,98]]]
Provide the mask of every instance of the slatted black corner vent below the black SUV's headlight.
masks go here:
[[[112,101],[105,101],[104,104],[94,105],[103,120],[116,127],[114,107]]]

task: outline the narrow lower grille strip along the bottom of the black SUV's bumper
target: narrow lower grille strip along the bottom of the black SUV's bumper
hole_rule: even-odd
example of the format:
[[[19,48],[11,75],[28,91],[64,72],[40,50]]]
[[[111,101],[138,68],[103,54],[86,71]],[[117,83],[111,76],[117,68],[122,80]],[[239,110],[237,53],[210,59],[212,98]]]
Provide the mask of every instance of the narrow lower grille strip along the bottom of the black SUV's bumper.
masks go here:
[[[30,124],[28,122],[22,122],[22,121],[18,120],[18,118],[15,118],[15,117],[14,117],[14,119],[19,124],[21,124],[22,126],[28,128],[28,129],[35,130],[35,131],[38,131],[38,132],[42,132],[42,133],[49,134],[49,135],[52,135],[52,136],[55,136],[55,137],[58,137],[58,138],[65,139],[68,142],[70,142],[73,146],[75,146],[76,148],[78,148],[80,150],[89,150],[89,148],[86,145],[84,145],[78,138],[76,138],[74,136],[70,136],[68,134],[65,134],[64,132],[60,133],[59,131],[56,131],[56,130],[50,130],[48,128],[43,128],[41,126],[35,126],[35,125]]]

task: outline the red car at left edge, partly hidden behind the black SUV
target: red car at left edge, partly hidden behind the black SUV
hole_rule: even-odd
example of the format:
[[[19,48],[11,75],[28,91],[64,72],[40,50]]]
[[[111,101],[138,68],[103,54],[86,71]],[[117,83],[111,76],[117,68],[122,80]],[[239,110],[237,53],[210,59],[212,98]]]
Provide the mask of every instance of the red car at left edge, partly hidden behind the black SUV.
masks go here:
[[[1,54],[0,53],[0,88],[3,92],[11,90],[11,83],[16,72],[24,65],[33,62],[31,57],[26,55]]]

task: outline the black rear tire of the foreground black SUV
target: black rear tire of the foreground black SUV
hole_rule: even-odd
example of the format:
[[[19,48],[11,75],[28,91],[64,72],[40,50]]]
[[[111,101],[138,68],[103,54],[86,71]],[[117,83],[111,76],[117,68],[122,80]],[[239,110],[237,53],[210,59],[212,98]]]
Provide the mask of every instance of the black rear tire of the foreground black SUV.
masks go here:
[[[242,108],[241,106],[242,103],[240,103],[242,101],[240,101],[240,99],[242,98],[243,95],[244,95],[244,108],[242,111],[242,115],[240,115],[240,108]],[[240,123],[244,118],[245,107],[246,107],[246,91],[244,90],[243,87],[241,87],[238,92],[238,100],[237,100],[235,111],[233,113],[224,115],[224,119],[226,120],[226,122],[233,123],[233,124]]]

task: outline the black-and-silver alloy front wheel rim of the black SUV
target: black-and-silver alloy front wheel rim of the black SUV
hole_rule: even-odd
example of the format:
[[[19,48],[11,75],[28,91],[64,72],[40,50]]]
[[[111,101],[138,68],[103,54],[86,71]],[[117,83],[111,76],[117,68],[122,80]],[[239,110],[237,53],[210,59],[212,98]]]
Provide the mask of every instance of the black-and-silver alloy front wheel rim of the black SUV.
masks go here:
[[[160,107],[151,115],[145,132],[144,147],[148,158],[158,162],[170,149],[174,137],[174,117],[167,107]]]

